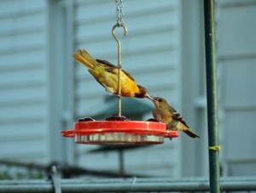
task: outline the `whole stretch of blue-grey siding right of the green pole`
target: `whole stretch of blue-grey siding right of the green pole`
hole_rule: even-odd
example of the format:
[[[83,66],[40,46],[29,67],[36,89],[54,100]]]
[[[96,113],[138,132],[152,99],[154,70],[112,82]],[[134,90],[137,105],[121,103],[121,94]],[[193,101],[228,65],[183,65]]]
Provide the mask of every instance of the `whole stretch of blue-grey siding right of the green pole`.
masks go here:
[[[255,1],[218,1],[218,69],[220,131],[224,175],[256,172]],[[248,169],[250,170],[248,172]],[[245,172],[247,171],[247,172]]]

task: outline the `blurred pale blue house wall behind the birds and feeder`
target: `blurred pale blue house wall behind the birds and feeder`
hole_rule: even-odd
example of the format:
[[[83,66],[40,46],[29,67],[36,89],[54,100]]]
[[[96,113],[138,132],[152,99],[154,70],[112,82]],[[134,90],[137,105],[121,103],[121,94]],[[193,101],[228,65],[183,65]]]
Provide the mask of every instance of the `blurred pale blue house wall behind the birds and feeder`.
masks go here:
[[[180,133],[163,145],[122,150],[120,159],[118,148],[77,145],[60,133],[79,117],[104,120],[115,111],[116,99],[73,60],[75,50],[84,48],[117,64],[114,1],[1,0],[0,176],[10,178],[17,162],[41,170],[55,162],[95,172],[207,177],[202,2],[123,0],[127,37],[116,29],[122,67],[149,94],[166,98],[201,139]],[[215,14],[221,175],[255,175],[256,1],[218,0]],[[123,115],[152,117],[148,99],[124,100]]]

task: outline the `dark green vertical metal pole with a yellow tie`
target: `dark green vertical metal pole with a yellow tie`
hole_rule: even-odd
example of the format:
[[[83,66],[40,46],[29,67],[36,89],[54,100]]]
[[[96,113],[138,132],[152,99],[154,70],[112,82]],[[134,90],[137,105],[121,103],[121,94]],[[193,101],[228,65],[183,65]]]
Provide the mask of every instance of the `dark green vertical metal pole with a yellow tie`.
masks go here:
[[[214,0],[204,0],[210,192],[220,192]]]

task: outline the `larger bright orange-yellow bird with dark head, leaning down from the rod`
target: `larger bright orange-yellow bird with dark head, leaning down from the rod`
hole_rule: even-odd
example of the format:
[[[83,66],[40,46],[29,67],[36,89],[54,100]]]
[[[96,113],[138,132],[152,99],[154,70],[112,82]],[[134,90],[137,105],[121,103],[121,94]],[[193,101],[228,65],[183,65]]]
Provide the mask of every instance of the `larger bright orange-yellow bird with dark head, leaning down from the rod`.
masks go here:
[[[148,90],[141,85],[137,85],[131,75],[120,69],[120,94],[118,89],[119,67],[111,64],[107,60],[96,60],[84,49],[79,49],[73,58],[88,68],[90,74],[109,93],[125,97],[148,98]]]

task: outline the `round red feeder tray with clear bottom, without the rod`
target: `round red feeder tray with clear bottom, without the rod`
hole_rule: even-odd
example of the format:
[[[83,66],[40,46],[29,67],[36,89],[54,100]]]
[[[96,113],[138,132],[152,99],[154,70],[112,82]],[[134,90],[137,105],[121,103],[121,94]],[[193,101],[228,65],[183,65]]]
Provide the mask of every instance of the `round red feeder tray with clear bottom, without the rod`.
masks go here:
[[[75,122],[62,136],[74,138],[77,144],[162,144],[164,138],[176,138],[177,131],[166,131],[162,122],[84,121]]]

